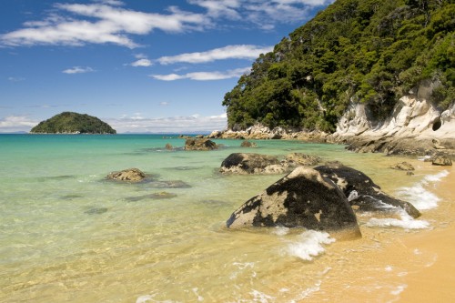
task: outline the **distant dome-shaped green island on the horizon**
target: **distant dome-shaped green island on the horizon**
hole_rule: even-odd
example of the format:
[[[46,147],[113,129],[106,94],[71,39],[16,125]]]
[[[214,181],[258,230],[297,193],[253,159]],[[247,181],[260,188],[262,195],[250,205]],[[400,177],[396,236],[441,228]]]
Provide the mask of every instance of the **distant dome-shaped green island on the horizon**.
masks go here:
[[[63,112],[41,121],[30,134],[116,134],[116,130],[96,116]]]

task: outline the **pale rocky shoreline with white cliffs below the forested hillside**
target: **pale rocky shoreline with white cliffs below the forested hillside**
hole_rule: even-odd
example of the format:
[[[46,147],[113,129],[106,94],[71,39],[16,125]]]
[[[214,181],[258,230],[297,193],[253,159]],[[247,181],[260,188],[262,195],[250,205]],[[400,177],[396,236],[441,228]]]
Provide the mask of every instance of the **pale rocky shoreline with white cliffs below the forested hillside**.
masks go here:
[[[430,85],[429,85],[430,86]],[[446,156],[455,160],[455,104],[441,111],[430,101],[430,88],[420,86],[403,96],[391,115],[375,120],[364,104],[351,102],[333,134],[303,129],[273,129],[257,124],[245,130],[214,131],[207,138],[283,139],[343,144],[358,153],[413,157]]]

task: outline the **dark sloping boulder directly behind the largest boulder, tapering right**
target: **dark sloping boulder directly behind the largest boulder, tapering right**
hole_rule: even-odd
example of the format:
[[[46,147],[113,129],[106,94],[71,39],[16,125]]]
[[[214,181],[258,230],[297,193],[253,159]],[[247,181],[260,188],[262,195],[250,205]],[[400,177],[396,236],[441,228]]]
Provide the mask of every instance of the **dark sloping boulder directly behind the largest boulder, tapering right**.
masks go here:
[[[348,197],[349,203],[360,211],[389,211],[404,209],[411,217],[420,217],[420,211],[406,201],[384,193],[367,175],[351,167],[315,167],[322,176],[329,177]]]

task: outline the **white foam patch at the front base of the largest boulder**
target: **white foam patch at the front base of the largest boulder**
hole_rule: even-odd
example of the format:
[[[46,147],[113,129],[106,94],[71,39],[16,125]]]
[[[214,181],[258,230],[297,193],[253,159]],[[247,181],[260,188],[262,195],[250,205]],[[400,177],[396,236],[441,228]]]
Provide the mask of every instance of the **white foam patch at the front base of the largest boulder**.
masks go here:
[[[298,241],[288,245],[288,254],[311,261],[325,251],[324,244],[335,242],[326,232],[307,230],[298,236]]]

